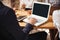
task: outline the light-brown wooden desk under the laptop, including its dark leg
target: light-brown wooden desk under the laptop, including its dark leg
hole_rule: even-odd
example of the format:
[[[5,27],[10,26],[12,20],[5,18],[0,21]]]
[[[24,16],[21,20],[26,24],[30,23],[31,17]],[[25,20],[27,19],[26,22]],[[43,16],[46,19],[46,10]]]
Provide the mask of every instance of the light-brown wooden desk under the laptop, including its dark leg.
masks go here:
[[[20,12],[19,12],[20,13]],[[26,14],[25,14],[26,13]],[[25,15],[27,15],[27,11],[24,11],[24,14]],[[22,13],[21,13],[22,14]],[[26,23],[24,23],[24,22],[19,22],[19,25],[20,26],[25,26],[26,25]],[[55,27],[54,27],[54,25],[53,25],[53,21],[52,21],[52,16],[49,16],[49,19],[48,19],[48,21],[46,22],[46,23],[44,23],[44,24],[42,24],[42,25],[40,25],[40,26],[38,26],[38,27],[35,27],[35,28],[46,28],[46,29],[49,29],[50,30],[50,35],[51,35],[51,40],[54,40],[54,36],[55,36]],[[54,33],[53,33],[54,32]]]

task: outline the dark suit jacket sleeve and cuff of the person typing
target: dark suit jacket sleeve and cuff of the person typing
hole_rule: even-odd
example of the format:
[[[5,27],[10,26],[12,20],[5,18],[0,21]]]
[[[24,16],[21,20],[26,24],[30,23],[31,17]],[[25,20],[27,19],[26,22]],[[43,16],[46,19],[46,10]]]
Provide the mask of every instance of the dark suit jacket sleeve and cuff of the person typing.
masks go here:
[[[15,37],[16,40],[24,40],[28,32],[31,30],[31,25],[27,24],[26,30],[29,31],[24,31],[22,28],[19,26],[15,12],[10,9],[6,14],[2,15],[2,25],[6,28],[8,33],[12,34],[12,36]]]

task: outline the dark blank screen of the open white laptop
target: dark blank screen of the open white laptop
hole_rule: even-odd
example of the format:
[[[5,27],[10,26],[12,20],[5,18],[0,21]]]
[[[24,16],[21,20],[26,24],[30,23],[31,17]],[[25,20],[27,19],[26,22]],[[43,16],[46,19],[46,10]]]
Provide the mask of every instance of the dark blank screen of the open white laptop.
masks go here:
[[[47,18],[48,12],[49,12],[49,5],[34,3],[32,14]]]

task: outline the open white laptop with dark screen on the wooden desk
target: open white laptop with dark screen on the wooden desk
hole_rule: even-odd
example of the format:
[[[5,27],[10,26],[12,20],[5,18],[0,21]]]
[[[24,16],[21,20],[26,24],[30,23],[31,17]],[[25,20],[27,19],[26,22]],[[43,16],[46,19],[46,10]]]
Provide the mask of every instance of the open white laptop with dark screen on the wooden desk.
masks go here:
[[[39,26],[48,20],[51,4],[43,2],[33,2],[32,14],[24,19],[28,23],[29,18],[37,19],[35,26]]]

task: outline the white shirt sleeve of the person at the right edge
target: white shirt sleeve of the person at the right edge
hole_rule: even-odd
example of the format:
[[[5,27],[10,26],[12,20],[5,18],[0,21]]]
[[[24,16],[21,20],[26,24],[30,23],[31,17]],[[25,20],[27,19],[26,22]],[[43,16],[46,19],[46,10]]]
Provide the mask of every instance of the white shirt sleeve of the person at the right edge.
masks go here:
[[[54,22],[55,27],[60,32],[60,11],[59,10],[55,10],[53,12],[53,22]]]

